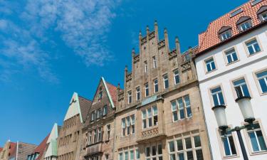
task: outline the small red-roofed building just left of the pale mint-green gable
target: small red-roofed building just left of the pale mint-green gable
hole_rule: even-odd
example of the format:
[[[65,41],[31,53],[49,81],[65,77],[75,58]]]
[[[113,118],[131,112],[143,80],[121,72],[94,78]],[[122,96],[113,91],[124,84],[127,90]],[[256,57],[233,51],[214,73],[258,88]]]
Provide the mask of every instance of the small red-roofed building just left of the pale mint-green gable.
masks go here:
[[[45,139],[34,149],[34,151],[28,155],[27,160],[43,160],[44,159],[44,153],[46,151],[47,147],[47,140],[49,138],[48,134]]]

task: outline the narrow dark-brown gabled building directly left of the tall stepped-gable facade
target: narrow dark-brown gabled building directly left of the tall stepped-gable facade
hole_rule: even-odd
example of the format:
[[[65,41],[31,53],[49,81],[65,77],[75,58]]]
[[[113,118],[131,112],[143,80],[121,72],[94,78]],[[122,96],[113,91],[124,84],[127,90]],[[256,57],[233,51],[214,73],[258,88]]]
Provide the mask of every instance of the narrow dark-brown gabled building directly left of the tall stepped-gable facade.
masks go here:
[[[83,127],[83,159],[113,159],[117,87],[100,78]]]

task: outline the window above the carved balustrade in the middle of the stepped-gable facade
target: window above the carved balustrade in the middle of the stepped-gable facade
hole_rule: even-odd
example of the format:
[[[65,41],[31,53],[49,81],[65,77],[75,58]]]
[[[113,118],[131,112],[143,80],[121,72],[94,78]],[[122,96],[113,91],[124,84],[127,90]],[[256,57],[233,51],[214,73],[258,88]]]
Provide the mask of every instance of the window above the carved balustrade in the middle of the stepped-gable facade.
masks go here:
[[[157,106],[148,107],[142,110],[142,128],[157,126]]]

